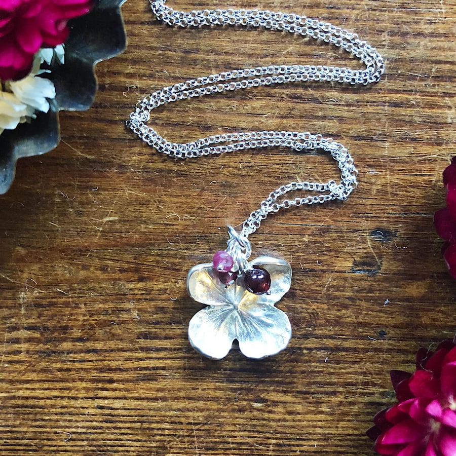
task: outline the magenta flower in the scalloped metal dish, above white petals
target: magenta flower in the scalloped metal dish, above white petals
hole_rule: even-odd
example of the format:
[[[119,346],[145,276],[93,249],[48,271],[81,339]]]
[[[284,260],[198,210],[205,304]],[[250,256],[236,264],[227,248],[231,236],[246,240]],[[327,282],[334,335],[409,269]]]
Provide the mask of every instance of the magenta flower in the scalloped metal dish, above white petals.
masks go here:
[[[68,36],[69,19],[90,11],[93,0],[3,0],[0,2],[0,79],[18,80],[42,47]]]

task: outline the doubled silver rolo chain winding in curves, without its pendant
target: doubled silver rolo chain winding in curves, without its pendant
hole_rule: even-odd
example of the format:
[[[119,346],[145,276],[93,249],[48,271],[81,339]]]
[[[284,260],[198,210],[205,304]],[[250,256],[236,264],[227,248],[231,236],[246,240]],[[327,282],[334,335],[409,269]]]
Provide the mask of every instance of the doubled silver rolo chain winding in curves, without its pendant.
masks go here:
[[[150,119],[150,111],[158,106],[201,95],[296,81],[328,81],[367,85],[379,81],[384,73],[385,65],[382,56],[365,41],[360,40],[356,33],[317,19],[309,19],[297,14],[244,9],[183,12],[165,6],[165,1],[150,0],[150,4],[157,18],[166,24],[180,27],[238,25],[283,30],[340,47],[363,62],[366,69],[355,70],[323,65],[270,65],[211,74],[174,84],[148,95],[136,105],[135,111],[131,113],[129,127],[147,144],[170,157],[181,159],[218,155],[249,148],[280,146],[294,149],[297,152],[323,149],[338,163],[341,176],[339,183],[334,180],[326,183],[291,182],[277,188],[261,202],[259,209],[253,211],[244,221],[239,235],[241,239],[247,240],[247,237],[258,229],[262,220],[282,208],[332,200],[345,201],[356,188],[357,170],[347,148],[331,138],[308,132],[253,131],[220,134],[192,142],[175,143],[160,136],[153,128],[147,126],[146,122]],[[297,190],[313,192],[314,195],[280,200],[280,197],[286,193]]]

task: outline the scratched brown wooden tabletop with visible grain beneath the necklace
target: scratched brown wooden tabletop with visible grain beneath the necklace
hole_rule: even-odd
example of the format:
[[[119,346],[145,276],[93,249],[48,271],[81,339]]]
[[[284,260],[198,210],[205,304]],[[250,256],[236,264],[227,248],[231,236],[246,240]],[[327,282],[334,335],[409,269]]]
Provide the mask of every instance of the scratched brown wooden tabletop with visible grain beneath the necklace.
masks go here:
[[[296,12],[356,31],[386,59],[366,88],[299,83],[157,110],[171,140],[243,130],[311,131],[350,149],[344,204],[264,221],[253,254],[290,261],[278,307],[293,337],[254,361],[196,353],[189,268],[224,248],[267,194],[337,177],[322,155],[267,149],[175,161],[125,127],[135,103],[188,78],[319,62],[358,66],[285,33],[182,29],[146,0],[123,13],[129,46],[97,66],[87,112],[62,112],[62,142],[23,159],[0,197],[0,454],[369,455],[373,415],[394,402],[389,370],[452,337],[456,283],[432,215],[456,155],[454,0],[175,0],[176,9]],[[342,63],[345,62],[345,63]]]

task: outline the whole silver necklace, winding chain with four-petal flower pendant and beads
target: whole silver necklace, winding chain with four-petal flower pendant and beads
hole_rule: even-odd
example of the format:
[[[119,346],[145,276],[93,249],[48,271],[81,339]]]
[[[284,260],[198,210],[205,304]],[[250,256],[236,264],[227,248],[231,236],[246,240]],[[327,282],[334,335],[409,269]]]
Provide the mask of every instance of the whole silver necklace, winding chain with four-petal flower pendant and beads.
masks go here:
[[[281,185],[244,221],[240,233],[228,227],[229,239],[225,250],[216,252],[212,262],[198,264],[188,273],[189,295],[207,306],[195,314],[188,325],[189,341],[197,351],[210,358],[221,359],[230,351],[233,341],[238,340],[240,350],[250,358],[275,355],[286,348],[291,338],[288,316],[275,307],[275,303],[290,288],[291,267],[287,261],[269,256],[249,261],[251,246],[248,236],[269,214],[280,209],[333,200],[345,201],[357,185],[357,170],[347,148],[320,134],[290,131],[227,133],[175,143],[160,136],[146,123],[150,112],[158,106],[212,93],[296,81],[367,85],[381,78],[385,70],[383,58],[357,34],[305,16],[244,9],[183,12],[165,6],[165,0],[150,0],[150,4],[157,18],[168,25],[237,25],[287,31],[343,48],[366,67],[270,65],[211,74],[148,95],[130,115],[129,127],[147,144],[170,157],[197,158],[274,146],[288,147],[298,153],[323,149],[337,162],[339,183],[329,180]],[[288,192],[297,190],[312,194],[294,199],[282,198]]]

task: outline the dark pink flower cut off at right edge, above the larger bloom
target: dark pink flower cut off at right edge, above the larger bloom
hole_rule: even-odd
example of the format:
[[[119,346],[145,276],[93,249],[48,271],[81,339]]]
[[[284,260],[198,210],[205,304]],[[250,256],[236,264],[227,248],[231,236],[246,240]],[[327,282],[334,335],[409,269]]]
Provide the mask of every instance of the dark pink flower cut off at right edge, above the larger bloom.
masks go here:
[[[437,234],[445,240],[442,247],[443,258],[450,274],[456,279],[456,157],[443,171],[443,184],[446,188],[446,207],[434,214]]]

